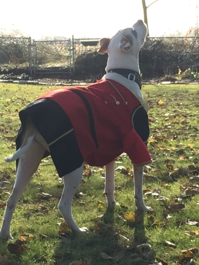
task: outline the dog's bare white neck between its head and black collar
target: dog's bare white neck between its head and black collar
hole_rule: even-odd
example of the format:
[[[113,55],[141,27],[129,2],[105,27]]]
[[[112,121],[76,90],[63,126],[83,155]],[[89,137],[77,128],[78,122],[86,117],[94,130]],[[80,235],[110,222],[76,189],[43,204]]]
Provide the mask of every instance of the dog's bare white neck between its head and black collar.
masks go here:
[[[135,56],[124,52],[122,54],[110,52],[105,71],[115,68],[131,69],[140,74],[138,54]]]

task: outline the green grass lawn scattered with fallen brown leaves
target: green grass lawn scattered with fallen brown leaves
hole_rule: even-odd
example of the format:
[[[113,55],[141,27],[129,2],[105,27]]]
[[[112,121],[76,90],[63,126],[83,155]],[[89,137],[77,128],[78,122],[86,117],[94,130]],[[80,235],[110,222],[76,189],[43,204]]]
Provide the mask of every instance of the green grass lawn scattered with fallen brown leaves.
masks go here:
[[[18,112],[50,89],[54,87],[0,83],[0,224],[15,180],[15,162],[5,163],[4,157],[15,151]],[[148,148],[153,159],[145,167],[143,189],[145,203],[153,211],[135,213],[132,165],[122,154],[115,171],[114,213],[106,213],[104,169],[85,167],[77,192],[81,193],[73,199],[73,217],[89,232],[74,237],[60,224],[58,202],[63,182],[47,157],[14,212],[14,240],[0,239],[0,265],[68,265],[73,261],[73,265],[199,264],[199,87],[144,85],[142,93],[150,105]],[[51,197],[42,197],[42,192]],[[19,239],[26,246],[24,251],[15,246],[16,254],[22,252],[20,257],[7,249]],[[136,248],[142,243],[151,246]],[[180,252],[187,249],[192,250]],[[186,263],[191,258],[194,263]]]

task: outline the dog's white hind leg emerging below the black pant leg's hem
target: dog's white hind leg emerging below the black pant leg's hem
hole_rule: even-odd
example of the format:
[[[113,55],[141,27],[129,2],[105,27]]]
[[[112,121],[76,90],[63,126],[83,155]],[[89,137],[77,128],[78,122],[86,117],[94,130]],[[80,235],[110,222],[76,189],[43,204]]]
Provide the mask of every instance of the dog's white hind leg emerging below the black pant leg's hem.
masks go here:
[[[86,227],[79,228],[72,218],[72,199],[80,184],[82,174],[83,174],[84,163],[71,173],[63,176],[64,178],[64,189],[62,197],[59,201],[59,210],[67,223],[68,227],[73,232],[80,232],[88,230]]]

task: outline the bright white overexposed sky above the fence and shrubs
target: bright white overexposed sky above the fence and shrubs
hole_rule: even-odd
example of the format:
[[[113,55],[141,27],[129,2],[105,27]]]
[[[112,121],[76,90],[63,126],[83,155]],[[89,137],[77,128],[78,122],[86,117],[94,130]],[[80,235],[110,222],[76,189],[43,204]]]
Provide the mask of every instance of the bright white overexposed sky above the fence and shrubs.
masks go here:
[[[154,0],[146,0],[149,5]],[[149,34],[185,34],[196,27],[198,0],[159,0],[148,8]],[[197,7],[197,8],[196,8]],[[24,36],[111,37],[143,19],[141,0],[10,0],[1,1],[0,32],[20,29]]]

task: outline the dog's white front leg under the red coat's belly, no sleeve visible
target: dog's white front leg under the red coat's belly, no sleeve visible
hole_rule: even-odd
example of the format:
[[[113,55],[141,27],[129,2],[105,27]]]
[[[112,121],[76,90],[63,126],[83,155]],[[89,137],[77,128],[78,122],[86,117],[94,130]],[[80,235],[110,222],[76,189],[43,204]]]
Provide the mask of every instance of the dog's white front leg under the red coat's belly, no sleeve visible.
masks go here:
[[[115,206],[115,161],[110,162],[105,167],[105,189],[107,208],[113,209]]]

